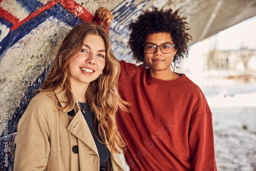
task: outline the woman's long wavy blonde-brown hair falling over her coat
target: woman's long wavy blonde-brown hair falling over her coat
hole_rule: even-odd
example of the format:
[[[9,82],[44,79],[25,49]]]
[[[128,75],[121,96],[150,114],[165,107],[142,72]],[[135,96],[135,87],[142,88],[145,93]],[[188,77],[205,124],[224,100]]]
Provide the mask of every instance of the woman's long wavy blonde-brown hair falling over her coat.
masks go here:
[[[83,40],[89,34],[103,38],[106,56],[102,74],[89,84],[86,92],[87,103],[94,113],[95,120],[98,121],[98,131],[103,141],[100,142],[107,144],[104,138],[104,135],[106,135],[106,140],[109,142],[108,145],[111,147],[111,153],[120,154],[120,151],[125,149],[125,143],[117,129],[116,112],[117,110],[126,111],[125,105],[127,103],[118,94],[117,82],[120,73],[120,63],[111,50],[108,33],[100,26],[84,23],[74,27],[67,34],[58,50],[46,80],[42,83],[42,91],[54,91],[60,86],[61,91],[65,91],[66,96],[70,100],[66,102],[66,106],[59,108],[66,109],[71,106],[73,94],[68,66],[82,49]],[[96,123],[94,122],[95,126]]]

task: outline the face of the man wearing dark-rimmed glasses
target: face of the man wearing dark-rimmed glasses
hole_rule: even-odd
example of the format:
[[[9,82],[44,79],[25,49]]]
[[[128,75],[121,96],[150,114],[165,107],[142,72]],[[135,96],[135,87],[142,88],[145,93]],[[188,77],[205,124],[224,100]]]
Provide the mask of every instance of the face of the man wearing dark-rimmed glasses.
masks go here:
[[[163,45],[173,45],[173,39],[170,37],[170,33],[153,33],[148,34],[145,39],[145,46],[150,45],[149,48],[155,46],[163,46]],[[165,46],[163,46],[164,48]],[[162,51],[164,51],[162,48]],[[177,53],[177,50],[174,47],[172,48],[172,52],[170,53],[162,53],[160,47],[157,47],[157,50],[154,53],[146,53],[143,52],[144,59],[148,67],[150,67],[151,72],[169,72],[170,67],[172,66],[172,62],[174,56]]]

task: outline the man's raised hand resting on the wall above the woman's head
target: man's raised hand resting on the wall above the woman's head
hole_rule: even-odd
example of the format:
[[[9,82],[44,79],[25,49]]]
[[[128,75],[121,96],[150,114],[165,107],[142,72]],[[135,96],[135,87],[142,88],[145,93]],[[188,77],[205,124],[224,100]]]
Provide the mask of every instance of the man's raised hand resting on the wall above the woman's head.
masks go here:
[[[112,11],[105,9],[104,7],[97,10],[96,15],[99,18],[99,24],[101,27],[109,27],[114,16],[112,15]]]

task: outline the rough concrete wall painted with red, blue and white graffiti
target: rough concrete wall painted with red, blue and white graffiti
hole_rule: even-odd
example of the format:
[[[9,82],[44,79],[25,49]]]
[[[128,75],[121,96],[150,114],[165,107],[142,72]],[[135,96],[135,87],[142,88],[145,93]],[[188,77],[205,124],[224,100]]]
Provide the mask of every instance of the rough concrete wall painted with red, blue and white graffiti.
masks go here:
[[[147,1],[0,0],[0,162],[12,170],[17,124],[40,88],[65,35],[90,22],[100,7],[113,11],[112,49],[132,61],[127,26]],[[136,14],[136,15],[135,15]]]

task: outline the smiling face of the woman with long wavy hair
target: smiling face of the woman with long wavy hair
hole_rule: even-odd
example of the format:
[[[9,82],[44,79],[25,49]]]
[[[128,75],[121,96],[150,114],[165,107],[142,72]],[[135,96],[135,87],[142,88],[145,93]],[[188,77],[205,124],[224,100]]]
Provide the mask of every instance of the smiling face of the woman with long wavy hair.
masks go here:
[[[81,51],[69,63],[72,84],[94,81],[105,67],[106,50],[101,36],[89,34],[83,40]]]

